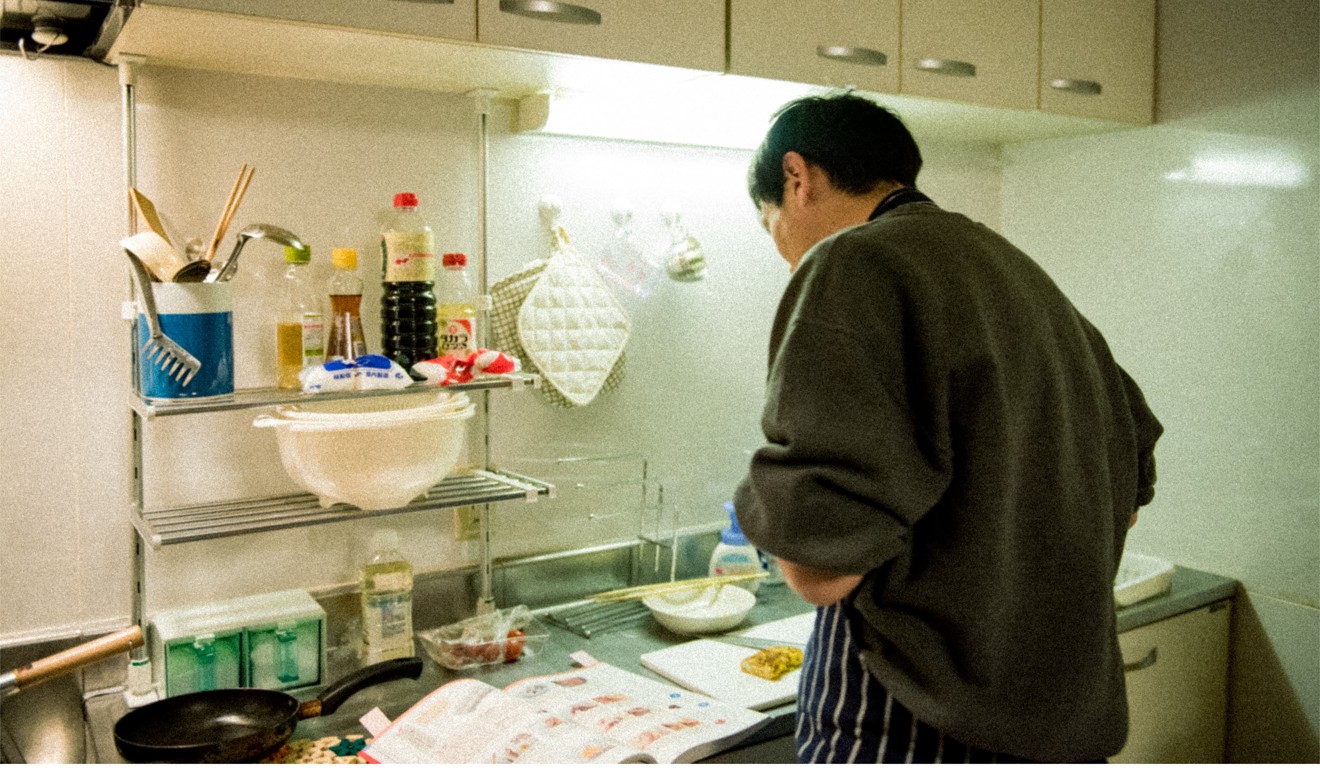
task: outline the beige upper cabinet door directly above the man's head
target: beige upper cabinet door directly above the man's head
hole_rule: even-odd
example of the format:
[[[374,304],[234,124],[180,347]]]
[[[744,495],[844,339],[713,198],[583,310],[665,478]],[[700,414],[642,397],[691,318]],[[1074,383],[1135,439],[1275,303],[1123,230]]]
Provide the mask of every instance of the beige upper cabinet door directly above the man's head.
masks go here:
[[[731,0],[729,71],[895,94],[899,0]]]

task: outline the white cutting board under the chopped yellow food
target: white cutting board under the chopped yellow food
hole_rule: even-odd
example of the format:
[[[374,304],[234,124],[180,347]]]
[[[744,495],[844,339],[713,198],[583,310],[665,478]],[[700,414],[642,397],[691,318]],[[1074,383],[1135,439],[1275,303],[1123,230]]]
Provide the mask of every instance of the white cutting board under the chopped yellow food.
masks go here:
[[[737,635],[777,639],[807,645],[816,613],[803,613],[770,623],[737,631]],[[785,674],[779,682],[743,672],[743,658],[756,651],[714,639],[684,642],[642,656],[642,664],[688,689],[709,695],[723,703],[751,709],[767,709],[797,700],[801,670]]]

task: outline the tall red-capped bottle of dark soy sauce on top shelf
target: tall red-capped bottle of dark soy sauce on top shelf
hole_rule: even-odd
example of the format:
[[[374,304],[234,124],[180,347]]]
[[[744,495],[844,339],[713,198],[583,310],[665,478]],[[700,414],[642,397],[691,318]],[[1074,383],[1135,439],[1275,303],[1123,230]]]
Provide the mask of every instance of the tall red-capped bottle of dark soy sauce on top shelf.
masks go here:
[[[380,351],[424,379],[412,365],[436,358],[436,236],[417,211],[416,194],[395,195],[380,259]]]

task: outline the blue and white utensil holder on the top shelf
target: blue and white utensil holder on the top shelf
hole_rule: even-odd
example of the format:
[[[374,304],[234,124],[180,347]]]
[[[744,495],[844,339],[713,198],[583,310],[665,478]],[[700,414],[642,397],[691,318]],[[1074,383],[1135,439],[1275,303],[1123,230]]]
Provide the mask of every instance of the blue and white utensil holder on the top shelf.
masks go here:
[[[150,339],[145,309],[137,314],[137,391],[145,399],[178,400],[234,394],[234,292],[228,283],[152,283],[161,332],[202,362],[185,386],[141,353]]]

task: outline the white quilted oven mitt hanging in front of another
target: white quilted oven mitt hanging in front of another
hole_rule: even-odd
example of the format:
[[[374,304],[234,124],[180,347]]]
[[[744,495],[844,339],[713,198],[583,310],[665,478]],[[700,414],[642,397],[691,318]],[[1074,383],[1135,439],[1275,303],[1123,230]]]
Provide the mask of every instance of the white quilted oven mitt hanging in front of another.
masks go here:
[[[556,226],[550,259],[517,312],[527,358],[565,400],[585,407],[605,388],[630,332],[623,306]]]

